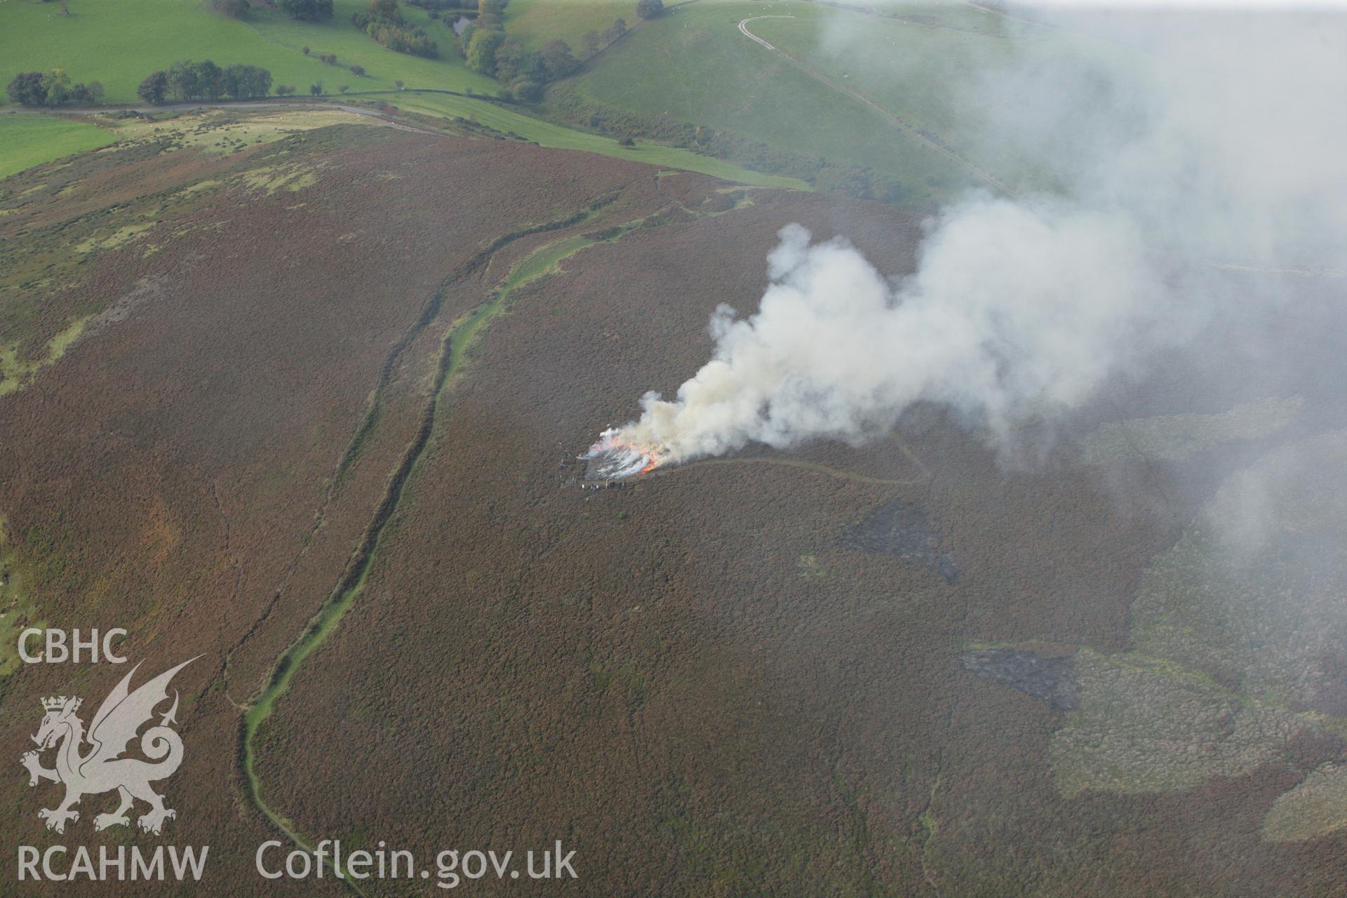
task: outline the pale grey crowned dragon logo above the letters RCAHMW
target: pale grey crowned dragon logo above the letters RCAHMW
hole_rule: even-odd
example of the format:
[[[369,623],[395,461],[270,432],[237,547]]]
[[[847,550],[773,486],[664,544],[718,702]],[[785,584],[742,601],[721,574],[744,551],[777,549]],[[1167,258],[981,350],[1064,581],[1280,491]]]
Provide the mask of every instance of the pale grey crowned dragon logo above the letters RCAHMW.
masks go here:
[[[183,661],[131,692],[131,677],[140,668],[137,664],[104,699],[98,712],[93,715],[88,735],[84,720],[75,715],[84,699],[57,696],[42,700],[46,715],[32,736],[38,750],[24,754],[20,762],[28,769],[30,786],[43,780],[63,782],[66,786],[65,801],[57,808],[38,812],[47,821],[47,829],[65,832],[67,820],[79,820],[79,812],[73,809],[79,798],[113,789],[121,797],[121,804],[112,813],[96,816],[94,829],[131,825],[127,812],[137,798],[150,805],[150,810],[136,820],[145,832],[158,836],[164,820],[176,816],[164,806],[163,796],[150,788],[151,782],[171,777],[182,763],[182,738],[172,730],[178,724],[176,689],[168,712],[160,716],[158,726],[150,727],[140,736],[140,751],[150,761],[124,758],[123,754],[140,727],[155,716],[155,707],[168,699],[168,681],[172,676],[195,660]],[[55,767],[43,767],[42,753],[50,749],[57,750]]]

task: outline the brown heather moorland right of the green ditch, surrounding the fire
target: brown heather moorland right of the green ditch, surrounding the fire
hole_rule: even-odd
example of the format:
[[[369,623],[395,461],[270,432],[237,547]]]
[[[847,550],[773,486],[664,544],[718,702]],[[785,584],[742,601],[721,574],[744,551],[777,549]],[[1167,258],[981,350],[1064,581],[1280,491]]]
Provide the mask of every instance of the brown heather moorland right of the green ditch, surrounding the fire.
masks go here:
[[[1061,715],[959,668],[979,641],[1125,648],[1140,571],[1193,512],[1165,470],[1134,471],[1119,509],[1064,452],[1008,475],[921,409],[866,450],[563,485],[559,458],[706,358],[714,304],[753,307],[784,222],[830,234],[845,214],[873,257],[909,264],[915,229],[890,213],[752,195],[574,256],[486,334],[364,599],[268,732],[264,780],[303,784],[287,813],[420,852],[560,836],[586,894],[1334,882],[1340,851],[1307,867],[1258,839],[1286,773],[1064,798],[1045,762]],[[958,586],[838,547],[892,498],[925,509]],[[361,758],[357,782],[334,751]],[[1184,860],[1210,844],[1247,860]]]

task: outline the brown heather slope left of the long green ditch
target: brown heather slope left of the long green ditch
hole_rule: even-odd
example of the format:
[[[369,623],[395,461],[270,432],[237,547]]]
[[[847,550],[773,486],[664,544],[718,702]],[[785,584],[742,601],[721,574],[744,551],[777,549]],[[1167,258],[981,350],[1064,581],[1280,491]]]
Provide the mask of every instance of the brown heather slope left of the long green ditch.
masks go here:
[[[174,839],[210,844],[213,879],[240,887],[257,880],[252,850],[268,829],[236,782],[233,703],[337,582],[416,427],[431,350],[482,300],[482,249],[614,193],[614,207],[653,207],[656,179],[579,153],[368,127],[226,158],[139,156],[4,183],[18,211],[0,218],[0,244],[35,272],[8,269],[35,310],[11,335],[40,347],[73,316],[97,322],[0,400],[5,548],[30,575],[34,617],[124,626],[145,672],[205,653],[180,675],[190,750],[168,790]],[[71,249],[141,221],[123,242]],[[3,750],[22,754],[42,695],[96,705],[123,673],[40,665],[7,679],[5,718],[23,723]],[[24,793],[7,844],[73,837],[40,828],[50,796],[19,775],[4,788]]]

